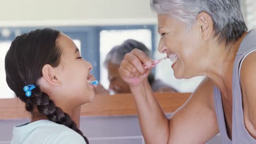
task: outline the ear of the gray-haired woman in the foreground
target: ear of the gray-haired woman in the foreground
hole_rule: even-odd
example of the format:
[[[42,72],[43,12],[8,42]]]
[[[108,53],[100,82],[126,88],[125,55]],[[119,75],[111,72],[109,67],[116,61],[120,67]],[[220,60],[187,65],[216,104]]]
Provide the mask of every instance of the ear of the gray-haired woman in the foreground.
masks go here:
[[[213,33],[212,17],[206,12],[201,12],[197,15],[197,22],[200,25],[201,39],[209,39]]]

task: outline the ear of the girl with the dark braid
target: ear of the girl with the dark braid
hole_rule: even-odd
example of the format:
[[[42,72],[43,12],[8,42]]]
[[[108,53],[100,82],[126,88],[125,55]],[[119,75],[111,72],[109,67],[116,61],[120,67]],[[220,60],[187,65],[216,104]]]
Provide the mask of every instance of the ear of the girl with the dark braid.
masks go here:
[[[60,81],[57,79],[55,68],[51,67],[50,64],[45,64],[42,69],[44,79],[51,85],[60,85]]]

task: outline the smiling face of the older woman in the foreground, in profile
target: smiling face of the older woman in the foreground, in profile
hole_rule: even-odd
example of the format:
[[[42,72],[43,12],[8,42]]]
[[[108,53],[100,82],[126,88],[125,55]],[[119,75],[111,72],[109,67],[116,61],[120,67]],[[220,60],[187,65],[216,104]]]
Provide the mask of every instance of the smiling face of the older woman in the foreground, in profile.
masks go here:
[[[158,15],[158,30],[161,35],[159,52],[170,55],[174,53],[177,60],[170,67],[173,68],[177,79],[189,79],[202,74],[203,57],[207,56],[205,40],[202,40],[202,29],[199,22],[193,27],[186,27],[186,23],[167,15]]]

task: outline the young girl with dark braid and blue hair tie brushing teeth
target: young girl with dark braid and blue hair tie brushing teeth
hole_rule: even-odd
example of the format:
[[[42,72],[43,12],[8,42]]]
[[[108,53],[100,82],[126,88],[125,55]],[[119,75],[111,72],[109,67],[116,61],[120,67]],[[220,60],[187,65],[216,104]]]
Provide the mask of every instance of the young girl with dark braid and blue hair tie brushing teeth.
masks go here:
[[[59,31],[37,29],[17,37],[5,56],[6,80],[32,116],[14,127],[11,143],[89,144],[77,126],[80,106],[95,97],[91,69]]]

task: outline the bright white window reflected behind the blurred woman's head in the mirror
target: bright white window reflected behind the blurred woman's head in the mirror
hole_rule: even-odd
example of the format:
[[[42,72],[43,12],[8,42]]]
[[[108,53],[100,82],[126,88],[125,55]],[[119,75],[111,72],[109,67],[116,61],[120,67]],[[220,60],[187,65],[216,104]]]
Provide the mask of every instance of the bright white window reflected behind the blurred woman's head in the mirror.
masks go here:
[[[104,30],[100,32],[100,67],[101,84],[108,89],[108,72],[104,68],[104,60],[107,53],[113,46],[120,45],[126,39],[135,39],[140,41],[152,50],[152,32],[150,29],[128,29],[128,30]]]

